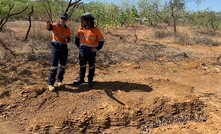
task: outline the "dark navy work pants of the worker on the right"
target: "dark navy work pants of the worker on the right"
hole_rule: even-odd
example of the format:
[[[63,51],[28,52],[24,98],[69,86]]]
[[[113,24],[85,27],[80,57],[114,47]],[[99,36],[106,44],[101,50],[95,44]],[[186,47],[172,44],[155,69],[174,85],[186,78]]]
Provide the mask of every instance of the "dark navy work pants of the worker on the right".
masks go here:
[[[79,71],[79,78],[83,80],[85,78],[86,73],[86,65],[89,65],[89,72],[88,72],[88,81],[92,82],[95,73],[95,57],[96,52],[91,51],[91,47],[81,46],[79,59],[80,59],[80,71]]]

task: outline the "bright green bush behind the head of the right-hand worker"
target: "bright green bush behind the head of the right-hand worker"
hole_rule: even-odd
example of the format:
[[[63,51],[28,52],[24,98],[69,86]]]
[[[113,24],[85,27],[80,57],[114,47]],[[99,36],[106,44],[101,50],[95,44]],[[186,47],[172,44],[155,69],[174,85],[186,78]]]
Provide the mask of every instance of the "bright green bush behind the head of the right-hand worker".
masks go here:
[[[113,3],[91,2],[85,9],[94,15],[96,24],[102,27],[128,26],[138,17],[135,6],[120,8]]]

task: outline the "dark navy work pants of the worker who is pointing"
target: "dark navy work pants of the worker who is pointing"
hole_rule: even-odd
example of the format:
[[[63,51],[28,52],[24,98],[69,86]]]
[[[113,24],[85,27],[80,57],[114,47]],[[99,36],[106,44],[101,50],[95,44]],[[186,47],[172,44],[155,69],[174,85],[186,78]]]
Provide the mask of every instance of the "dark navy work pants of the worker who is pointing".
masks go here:
[[[56,81],[57,72],[58,72],[57,81],[62,82],[62,80],[64,79],[67,58],[68,58],[67,44],[52,45],[51,71],[50,71],[49,81],[48,81],[49,85],[54,85]],[[58,66],[58,64],[60,65]]]

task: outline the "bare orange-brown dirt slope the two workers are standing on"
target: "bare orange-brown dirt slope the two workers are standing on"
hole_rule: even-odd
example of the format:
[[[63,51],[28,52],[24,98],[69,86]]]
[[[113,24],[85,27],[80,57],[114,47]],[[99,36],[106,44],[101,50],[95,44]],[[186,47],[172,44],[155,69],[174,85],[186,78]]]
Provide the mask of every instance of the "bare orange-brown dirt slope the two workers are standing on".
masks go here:
[[[0,62],[0,133],[221,133],[221,47],[156,40],[143,26],[135,40],[130,31],[104,31],[93,88],[72,85],[73,45],[55,92],[47,90],[46,41],[32,55],[28,43],[9,46],[17,56]]]

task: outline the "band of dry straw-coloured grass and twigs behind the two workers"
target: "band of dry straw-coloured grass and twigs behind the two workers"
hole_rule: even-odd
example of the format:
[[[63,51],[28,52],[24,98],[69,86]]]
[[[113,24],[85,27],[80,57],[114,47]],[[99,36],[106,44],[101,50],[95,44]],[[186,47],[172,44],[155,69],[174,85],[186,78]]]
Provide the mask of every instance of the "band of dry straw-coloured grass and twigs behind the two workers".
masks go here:
[[[74,36],[79,24],[69,22],[68,26],[72,29]],[[28,42],[23,42],[22,39],[27,27],[27,22],[11,22],[1,38],[4,38],[4,42],[9,44],[7,46],[23,59],[30,61],[49,60],[51,33],[45,29],[45,23],[33,22]],[[142,25],[127,29],[103,30],[106,42],[102,51],[98,53],[98,63],[108,65],[123,61],[139,62],[145,59],[177,61],[190,58],[192,52],[167,46],[168,43],[197,46],[218,46],[220,44],[219,38],[212,36],[211,31],[209,31],[209,35],[206,35],[205,30],[200,32],[200,29],[183,26],[178,27],[179,32],[174,35],[172,30],[172,27],[153,28]],[[219,35],[219,31],[216,35]],[[9,37],[16,40],[10,41]],[[77,63],[78,50],[73,42],[69,43],[69,49],[69,62]]]

